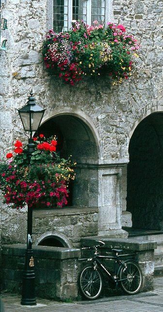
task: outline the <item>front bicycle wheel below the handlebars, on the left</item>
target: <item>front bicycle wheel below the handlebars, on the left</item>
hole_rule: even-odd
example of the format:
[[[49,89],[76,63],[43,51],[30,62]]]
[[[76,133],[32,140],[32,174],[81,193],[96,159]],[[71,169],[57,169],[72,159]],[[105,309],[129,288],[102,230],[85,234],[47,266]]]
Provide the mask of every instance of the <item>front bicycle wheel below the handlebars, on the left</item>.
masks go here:
[[[103,289],[102,275],[93,265],[82,268],[79,275],[79,286],[81,294],[89,300],[97,299]]]

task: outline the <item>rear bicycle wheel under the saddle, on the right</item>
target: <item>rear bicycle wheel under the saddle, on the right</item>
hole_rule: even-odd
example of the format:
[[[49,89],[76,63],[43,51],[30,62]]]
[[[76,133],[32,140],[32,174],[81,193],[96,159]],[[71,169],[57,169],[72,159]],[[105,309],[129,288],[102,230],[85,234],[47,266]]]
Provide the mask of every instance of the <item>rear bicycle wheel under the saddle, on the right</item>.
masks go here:
[[[124,267],[126,265],[126,267]],[[143,282],[143,274],[139,265],[133,260],[127,260],[119,268],[119,280],[121,289],[129,294],[137,294]]]

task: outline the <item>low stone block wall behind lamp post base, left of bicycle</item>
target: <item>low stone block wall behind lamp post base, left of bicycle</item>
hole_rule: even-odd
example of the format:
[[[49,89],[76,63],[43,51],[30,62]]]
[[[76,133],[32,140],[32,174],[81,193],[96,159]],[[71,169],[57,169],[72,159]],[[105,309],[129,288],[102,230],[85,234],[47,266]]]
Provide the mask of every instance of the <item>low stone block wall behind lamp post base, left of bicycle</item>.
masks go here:
[[[3,290],[21,293],[25,245],[7,245],[2,250]],[[36,296],[65,300],[78,296],[80,250],[38,246],[33,249]]]

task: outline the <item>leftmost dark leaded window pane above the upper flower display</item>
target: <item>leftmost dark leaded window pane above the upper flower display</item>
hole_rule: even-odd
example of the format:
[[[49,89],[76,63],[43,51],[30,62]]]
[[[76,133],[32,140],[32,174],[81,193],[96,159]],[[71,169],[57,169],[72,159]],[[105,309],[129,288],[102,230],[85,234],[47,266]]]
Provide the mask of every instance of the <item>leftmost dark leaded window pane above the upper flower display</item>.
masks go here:
[[[68,0],[53,0],[53,29],[68,30]]]

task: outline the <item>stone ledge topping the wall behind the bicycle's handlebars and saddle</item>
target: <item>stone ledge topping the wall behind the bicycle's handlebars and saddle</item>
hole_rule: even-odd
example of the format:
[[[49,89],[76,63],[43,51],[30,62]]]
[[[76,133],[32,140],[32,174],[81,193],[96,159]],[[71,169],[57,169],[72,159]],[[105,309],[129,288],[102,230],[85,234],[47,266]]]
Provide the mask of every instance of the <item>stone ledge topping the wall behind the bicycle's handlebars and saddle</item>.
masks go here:
[[[123,239],[123,238],[108,238],[107,236],[93,236],[85,237],[81,239],[81,244],[84,246],[96,245],[96,240],[101,240],[105,243],[105,248],[110,249],[123,249],[123,250],[154,250],[157,248],[157,242],[140,240],[135,241],[134,239]]]

